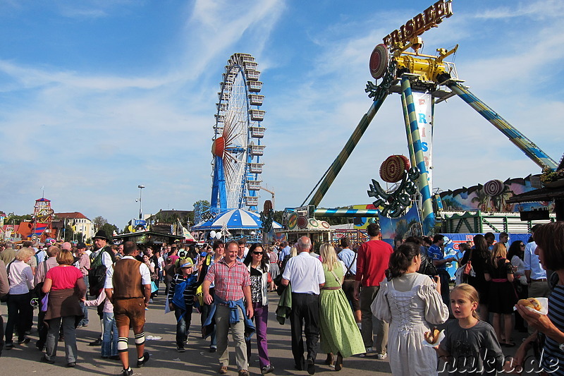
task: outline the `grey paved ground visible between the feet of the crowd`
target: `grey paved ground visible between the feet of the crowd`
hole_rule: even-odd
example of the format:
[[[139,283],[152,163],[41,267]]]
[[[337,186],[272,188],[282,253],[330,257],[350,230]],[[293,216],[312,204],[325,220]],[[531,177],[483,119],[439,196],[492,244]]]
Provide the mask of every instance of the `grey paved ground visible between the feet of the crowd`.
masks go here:
[[[271,309],[269,317],[269,356],[276,368],[272,375],[307,375],[305,371],[294,370],[294,362],[290,350],[290,323],[280,325],[274,317],[274,306],[277,302],[276,293],[271,295]],[[6,313],[6,306],[2,305],[1,312]],[[37,313],[37,311],[36,311]],[[13,350],[6,351],[0,358],[1,375],[33,375],[35,372],[46,375],[118,375],[121,372],[121,363],[116,360],[106,360],[99,356],[99,347],[90,347],[87,344],[93,341],[99,332],[99,321],[92,320],[97,316],[90,310],[90,325],[77,329],[79,358],[76,368],[66,368],[63,344],[59,343],[59,352],[54,365],[39,363],[41,353],[35,348],[37,332],[32,332],[32,342],[23,346],[16,346]],[[147,311],[146,336],[161,336],[159,340],[147,340],[146,348],[151,354],[151,359],[143,368],[133,368],[135,375],[164,376],[164,372],[173,370],[184,371],[183,375],[218,375],[219,368],[216,354],[209,353],[209,341],[200,338],[200,315],[192,314],[192,332],[185,353],[177,353],[174,336],[176,320],[173,313],[164,315],[164,299],[157,297],[155,303]],[[4,322],[6,315],[4,314]],[[35,330],[35,327],[34,327]],[[522,335],[515,338],[517,343],[522,340]],[[135,346],[130,339],[130,361],[135,364],[133,355]],[[250,360],[251,375],[260,375],[258,357],[256,356],[256,341],[253,345],[254,355]],[[504,351],[510,355],[514,348]],[[319,354],[318,363],[323,363],[324,354]],[[232,365],[228,368],[228,375],[237,375],[235,356],[231,351]],[[344,368],[338,375],[357,376],[359,372],[369,375],[391,375],[388,360],[377,360],[375,356],[360,358],[353,356],[346,358]],[[318,365],[316,375],[336,375],[335,370],[327,365]]]

